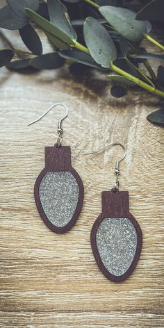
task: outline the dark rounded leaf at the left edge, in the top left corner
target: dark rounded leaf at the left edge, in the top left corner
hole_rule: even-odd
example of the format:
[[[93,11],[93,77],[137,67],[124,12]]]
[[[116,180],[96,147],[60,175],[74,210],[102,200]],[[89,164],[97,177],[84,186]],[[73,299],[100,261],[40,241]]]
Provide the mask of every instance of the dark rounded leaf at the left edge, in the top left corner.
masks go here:
[[[17,30],[24,27],[27,23],[27,18],[18,17],[8,6],[0,9],[0,27],[8,30]]]

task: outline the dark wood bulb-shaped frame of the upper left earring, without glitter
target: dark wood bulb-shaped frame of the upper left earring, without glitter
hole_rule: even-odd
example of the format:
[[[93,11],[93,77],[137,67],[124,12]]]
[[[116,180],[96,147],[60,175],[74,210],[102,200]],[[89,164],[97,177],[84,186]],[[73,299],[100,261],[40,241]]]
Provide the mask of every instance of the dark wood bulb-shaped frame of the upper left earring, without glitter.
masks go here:
[[[79,186],[79,198],[76,206],[76,210],[74,211],[74,215],[72,219],[64,226],[64,227],[56,227],[52,224],[47,215],[44,213],[42,208],[42,204],[40,202],[40,195],[39,195],[39,188],[42,178],[47,172],[53,171],[69,171],[75,177],[78,186]],[[73,227],[76,220],[79,218],[81,213],[81,208],[83,206],[83,197],[84,197],[84,188],[83,188],[83,181],[79,174],[74,170],[74,167],[71,165],[71,148],[69,146],[60,146],[60,147],[45,147],[45,167],[38,175],[38,178],[35,181],[34,186],[34,197],[35,197],[35,204],[38,208],[38,212],[40,217],[42,218],[43,222],[56,233],[65,233],[69,229]]]

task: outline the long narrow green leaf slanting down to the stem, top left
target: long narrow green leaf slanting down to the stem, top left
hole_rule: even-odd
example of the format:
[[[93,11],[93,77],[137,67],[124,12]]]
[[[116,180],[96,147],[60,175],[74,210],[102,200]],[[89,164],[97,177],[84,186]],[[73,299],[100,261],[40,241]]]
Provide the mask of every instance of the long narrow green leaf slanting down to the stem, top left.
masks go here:
[[[58,26],[55,26],[47,19],[35,13],[33,10],[26,8],[26,13],[28,17],[30,17],[31,20],[35,22],[35,24],[40,26],[40,28],[42,28],[44,31],[47,31],[48,33],[56,36],[56,38],[62,40],[67,44],[75,43],[74,40],[72,40],[72,38],[69,38],[69,36],[65,32],[61,31],[60,28],[58,28]]]

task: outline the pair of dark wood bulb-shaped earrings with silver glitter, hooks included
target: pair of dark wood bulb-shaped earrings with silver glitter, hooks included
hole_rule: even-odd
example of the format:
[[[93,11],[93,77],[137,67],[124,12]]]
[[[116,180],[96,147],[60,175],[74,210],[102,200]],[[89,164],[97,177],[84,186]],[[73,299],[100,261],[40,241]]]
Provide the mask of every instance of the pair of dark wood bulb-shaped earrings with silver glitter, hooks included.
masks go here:
[[[83,206],[83,181],[71,164],[71,148],[63,146],[62,122],[68,115],[67,107],[57,103],[51,106],[38,120],[55,106],[63,106],[65,115],[58,121],[58,140],[54,147],[45,147],[45,167],[35,181],[34,197],[40,217],[56,233],[65,233],[75,224]],[[111,281],[125,280],[133,272],[142,249],[140,225],[129,212],[129,192],[119,191],[120,162],[126,149],[120,142],[93,151],[120,146],[124,156],[115,164],[116,182],[110,191],[101,193],[102,211],[91,231],[92,252],[101,272]],[[87,154],[87,155],[89,155]]]

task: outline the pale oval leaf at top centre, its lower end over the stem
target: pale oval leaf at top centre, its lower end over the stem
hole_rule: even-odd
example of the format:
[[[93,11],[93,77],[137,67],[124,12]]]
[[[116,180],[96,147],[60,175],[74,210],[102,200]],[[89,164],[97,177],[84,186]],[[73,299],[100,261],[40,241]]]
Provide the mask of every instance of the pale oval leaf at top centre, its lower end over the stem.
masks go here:
[[[88,17],[83,26],[83,33],[92,58],[102,67],[109,68],[117,56],[117,51],[106,28],[95,18]]]

